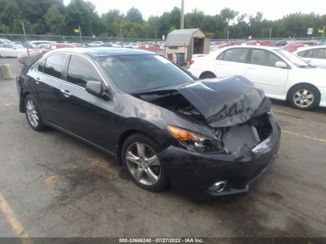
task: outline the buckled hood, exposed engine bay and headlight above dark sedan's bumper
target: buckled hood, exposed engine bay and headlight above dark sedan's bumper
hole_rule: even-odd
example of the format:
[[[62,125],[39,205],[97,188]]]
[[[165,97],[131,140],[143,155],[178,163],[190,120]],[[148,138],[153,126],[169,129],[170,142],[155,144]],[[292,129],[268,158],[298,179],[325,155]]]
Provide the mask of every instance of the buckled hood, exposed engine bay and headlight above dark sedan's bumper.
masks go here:
[[[210,138],[179,125],[166,125],[181,145],[200,153],[239,155],[265,140],[271,130],[269,99],[241,77],[196,81],[134,96],[191,118],[213,132]]]

